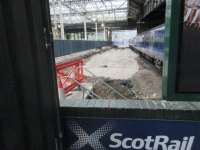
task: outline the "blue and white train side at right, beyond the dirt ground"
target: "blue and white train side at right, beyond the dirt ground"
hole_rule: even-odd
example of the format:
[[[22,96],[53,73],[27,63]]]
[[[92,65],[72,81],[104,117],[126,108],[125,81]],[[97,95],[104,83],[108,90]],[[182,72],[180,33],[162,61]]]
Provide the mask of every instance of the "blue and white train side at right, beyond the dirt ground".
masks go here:
[[[130,40],[130,46],[138,51],[163,61],[165,49],[165,26],[161,25],[137,35]]]

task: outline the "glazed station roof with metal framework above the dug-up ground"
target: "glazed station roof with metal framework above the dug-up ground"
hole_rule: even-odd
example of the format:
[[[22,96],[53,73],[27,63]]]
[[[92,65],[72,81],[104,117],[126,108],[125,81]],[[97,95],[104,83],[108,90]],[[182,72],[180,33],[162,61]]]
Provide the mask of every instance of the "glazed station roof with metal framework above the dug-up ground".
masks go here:
[[[49,0],[53,24],[136,22],[144,0]],[[72,26],[72,27],[73,27]],[[117,24],[115,24],[117,26]],[[119,24],[121,26],[121,24]]]

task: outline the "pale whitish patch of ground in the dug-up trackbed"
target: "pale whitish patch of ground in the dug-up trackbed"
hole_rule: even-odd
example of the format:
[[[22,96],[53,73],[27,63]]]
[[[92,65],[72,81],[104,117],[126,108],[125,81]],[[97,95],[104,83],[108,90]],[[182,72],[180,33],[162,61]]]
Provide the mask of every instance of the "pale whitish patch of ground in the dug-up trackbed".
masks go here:
[[[132,52],[129,48],[112,48],[86,59],[84,67],[97,77],[128,80],[139,70],[137,57],[138,54]],[[86,69],[84,74],[91,76]]]

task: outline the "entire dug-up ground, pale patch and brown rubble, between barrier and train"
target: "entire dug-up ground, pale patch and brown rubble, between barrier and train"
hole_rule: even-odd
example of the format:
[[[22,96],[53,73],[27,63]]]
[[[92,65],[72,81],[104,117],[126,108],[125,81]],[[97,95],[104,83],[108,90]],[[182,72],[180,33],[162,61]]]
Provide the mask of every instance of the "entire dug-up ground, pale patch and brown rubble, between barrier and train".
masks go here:
[[[161,73],[129,48],[87,57],[83,70],[83,83],[66,99],[161,99]]]

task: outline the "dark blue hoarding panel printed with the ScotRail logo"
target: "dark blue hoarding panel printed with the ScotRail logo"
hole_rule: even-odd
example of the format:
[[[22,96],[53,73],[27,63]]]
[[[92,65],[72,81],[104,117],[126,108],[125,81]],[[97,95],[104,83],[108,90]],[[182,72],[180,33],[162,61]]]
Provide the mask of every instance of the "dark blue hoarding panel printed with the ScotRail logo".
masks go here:
[[[72,150],[200,150],[200,122],[64,118]]]

